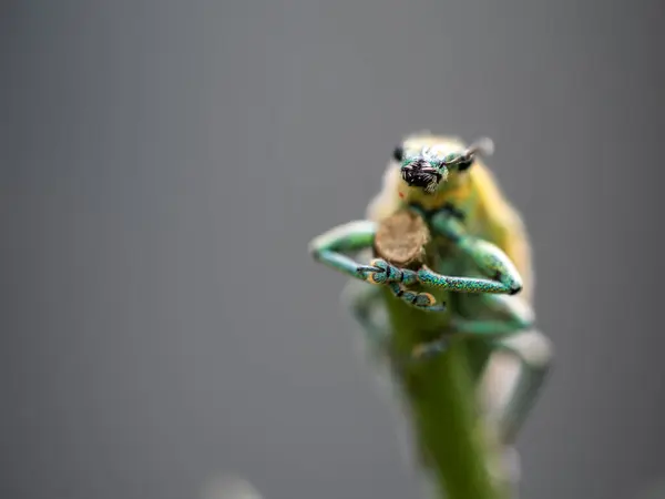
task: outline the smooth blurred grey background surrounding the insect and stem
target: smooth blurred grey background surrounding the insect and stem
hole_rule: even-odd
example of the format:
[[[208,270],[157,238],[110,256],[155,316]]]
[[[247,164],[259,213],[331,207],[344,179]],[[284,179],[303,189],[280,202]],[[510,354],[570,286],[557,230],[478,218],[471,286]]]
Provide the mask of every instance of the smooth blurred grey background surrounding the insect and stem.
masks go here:
[[[307,243],[490,135],[556,368],[523,497],[665,475],[662,1],[7,1],[0,497],[419,493]]]

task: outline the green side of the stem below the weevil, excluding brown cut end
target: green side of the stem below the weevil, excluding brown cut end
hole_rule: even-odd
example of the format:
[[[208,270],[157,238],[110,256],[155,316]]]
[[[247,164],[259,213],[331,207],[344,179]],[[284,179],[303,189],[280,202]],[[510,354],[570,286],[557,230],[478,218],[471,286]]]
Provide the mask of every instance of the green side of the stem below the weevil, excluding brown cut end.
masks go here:
[[[420,338],[411,314],[393,313],[393,347],[408,353]],[[436,477],[441,498],[505,499],[488,469],[491,446],[478,418],[475,385],[463,342],[399,371],[422,465]],[[398,354],[399,355],[399,354]]]

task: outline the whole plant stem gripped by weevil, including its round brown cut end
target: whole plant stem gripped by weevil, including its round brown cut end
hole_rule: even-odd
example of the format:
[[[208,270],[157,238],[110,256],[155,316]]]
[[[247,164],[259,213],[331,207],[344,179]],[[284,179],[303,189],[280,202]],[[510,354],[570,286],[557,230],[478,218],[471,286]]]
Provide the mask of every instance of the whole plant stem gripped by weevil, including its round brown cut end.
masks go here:
[[[377,231],[376,255],[399,267],[416,269],[428,263],[431,236],[412,212],[397,213]],[[431,263],[431,262],[430,262]],[[420,286],[411,286],[420,292]],[[429,291],[431,292],[431,291]],[[438,302],[446,302],[441,292]],[[415,346],[434,339],[449,326],[448,314],[416,309],[386,291],[396,359],[409,358]],[[418,363],[398,363],[397,379],[406,396],[421,465],[432,472],[446,499],[507,499],[508,490],[490,475],[491,452],[478,410],[478,373],[469,365],[468,338],[450,342],[442,355]],[[397,361],[397,360],[396,360]]]

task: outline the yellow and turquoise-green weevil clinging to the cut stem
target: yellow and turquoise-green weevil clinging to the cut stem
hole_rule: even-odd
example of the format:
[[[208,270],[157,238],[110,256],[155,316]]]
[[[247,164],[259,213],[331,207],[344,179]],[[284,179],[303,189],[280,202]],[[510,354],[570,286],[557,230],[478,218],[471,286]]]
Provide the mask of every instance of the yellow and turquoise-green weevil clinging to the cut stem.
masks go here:
[[[488,139],[467,146],[429,132],[407,136],[365,220],[321,234],[309,251],[351,277],[347,301],[375,342],[397,343],[418,363],[463,340],[479,395],[492,383],[494,359],[510,359],[518,367],[514,383],[481,410],[512,451],[549,373],[552,345],[535,327],[525,226],[482,160],[492,147]],[[432,236],[433,258],[418,269],[377,258],[377,231],[405,210],[417,213]],[[398,324],[409,324],[407,338],[395,338]],[[420,445],[427,455],[427,442]]]

